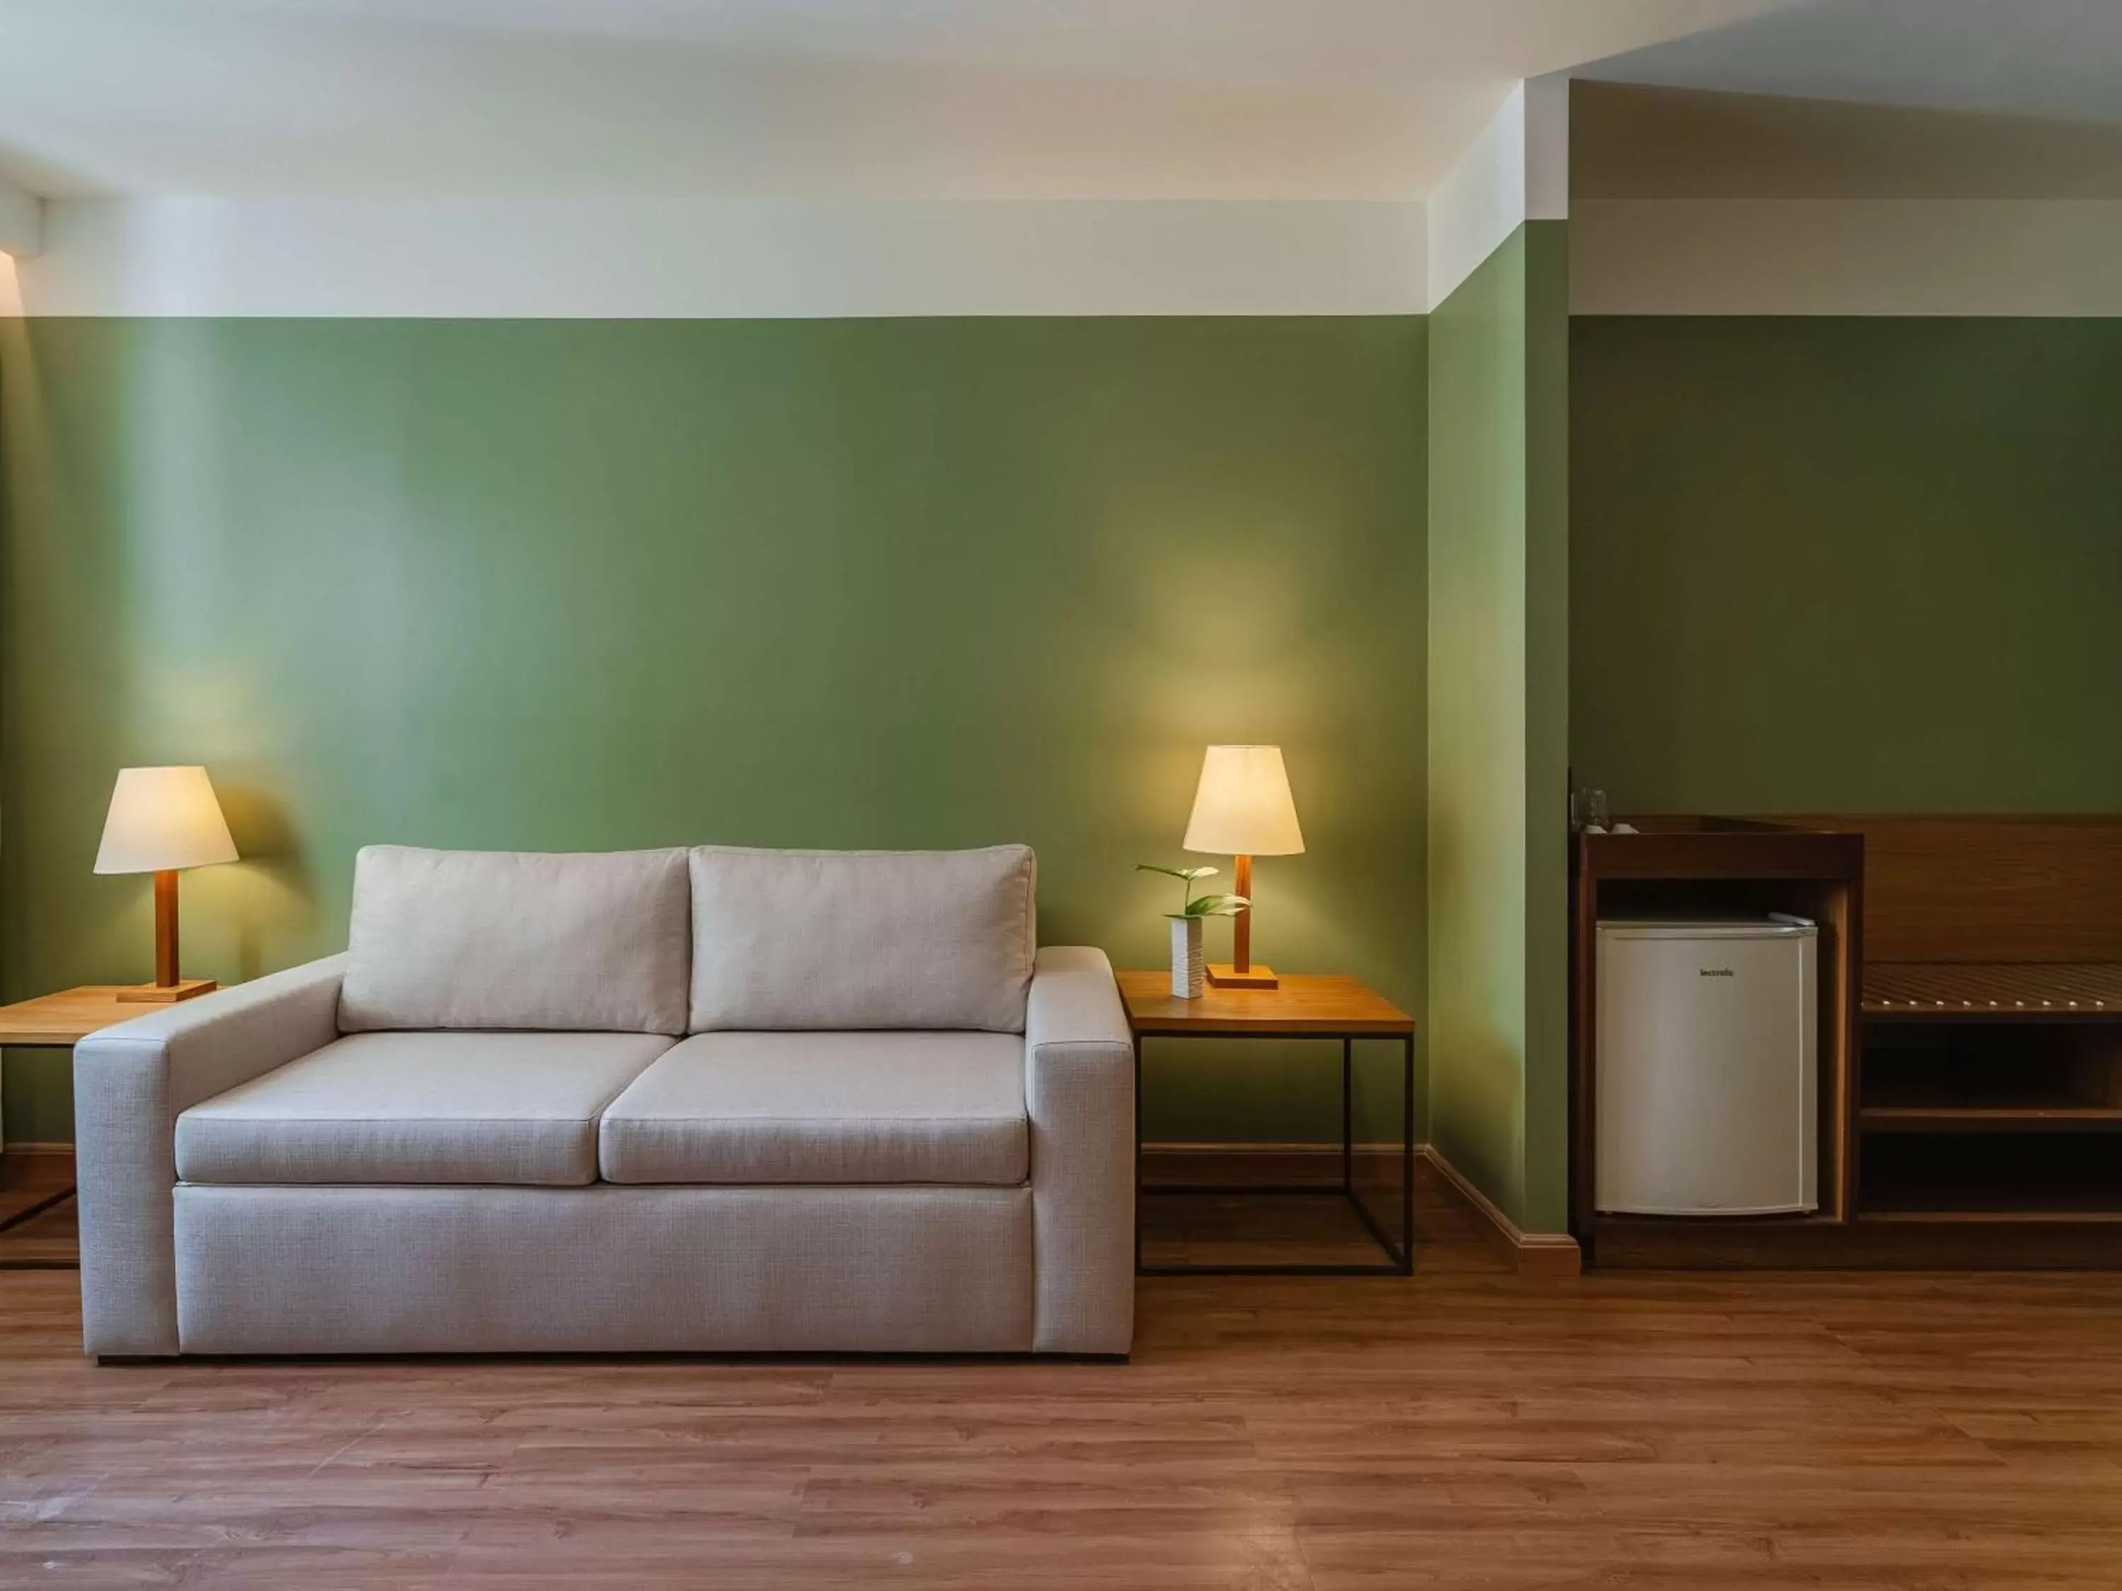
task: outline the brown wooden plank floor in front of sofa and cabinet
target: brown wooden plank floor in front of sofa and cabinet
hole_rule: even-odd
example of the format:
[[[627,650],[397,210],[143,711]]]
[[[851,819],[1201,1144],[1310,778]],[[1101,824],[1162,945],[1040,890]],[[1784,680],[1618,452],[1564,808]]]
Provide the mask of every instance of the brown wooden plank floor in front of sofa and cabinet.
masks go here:
[[[1146,1281],[1131,1364],[98,1368],[74,1275],[0,1273],[0,1585],[2122,1585],[2122,1277],[1422,1226],[1413,1279]]]

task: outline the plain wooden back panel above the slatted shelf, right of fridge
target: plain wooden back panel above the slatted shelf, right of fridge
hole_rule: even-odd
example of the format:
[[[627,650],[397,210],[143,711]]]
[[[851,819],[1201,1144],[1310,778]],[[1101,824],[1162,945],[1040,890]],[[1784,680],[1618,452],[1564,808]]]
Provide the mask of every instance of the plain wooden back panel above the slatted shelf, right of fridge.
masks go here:
[[[2122,817],[1789,821],[1863,836],[1872,961],[2122,961]]]

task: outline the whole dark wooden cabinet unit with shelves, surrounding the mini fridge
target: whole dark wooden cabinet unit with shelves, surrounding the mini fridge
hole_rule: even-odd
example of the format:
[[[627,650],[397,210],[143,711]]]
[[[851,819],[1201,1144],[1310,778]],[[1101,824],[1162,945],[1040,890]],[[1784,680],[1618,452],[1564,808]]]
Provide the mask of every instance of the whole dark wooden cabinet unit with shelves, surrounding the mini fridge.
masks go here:
[[[1572,1220],[1589,1264],[2122,1264],[2122,819],[1636,823],[1577,842]],[[1808,891],[1816,910],[1795,904]],[[1704,906],[1823,925],[1814,1218],[1592,1209],[1592,925]]]

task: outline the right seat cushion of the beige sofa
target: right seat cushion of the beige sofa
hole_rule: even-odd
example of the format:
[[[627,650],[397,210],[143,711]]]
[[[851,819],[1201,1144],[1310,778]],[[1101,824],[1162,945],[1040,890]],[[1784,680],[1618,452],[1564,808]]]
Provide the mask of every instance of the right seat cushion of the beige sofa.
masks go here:
[[[1014,1186],[1029,1165],[1012,1033],[700,1033],[611,1101],[605,1182]]]

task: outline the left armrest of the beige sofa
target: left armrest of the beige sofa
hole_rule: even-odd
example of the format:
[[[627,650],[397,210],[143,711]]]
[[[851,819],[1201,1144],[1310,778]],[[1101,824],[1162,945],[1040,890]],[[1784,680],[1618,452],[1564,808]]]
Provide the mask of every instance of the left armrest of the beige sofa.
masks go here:
[[[151,1008],[74,1046],[81,1336],[176,1353],[176,1116],[340,1035],[346,957]]]

